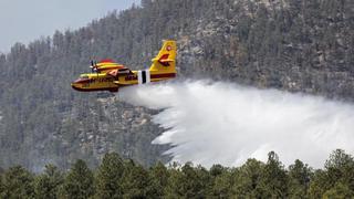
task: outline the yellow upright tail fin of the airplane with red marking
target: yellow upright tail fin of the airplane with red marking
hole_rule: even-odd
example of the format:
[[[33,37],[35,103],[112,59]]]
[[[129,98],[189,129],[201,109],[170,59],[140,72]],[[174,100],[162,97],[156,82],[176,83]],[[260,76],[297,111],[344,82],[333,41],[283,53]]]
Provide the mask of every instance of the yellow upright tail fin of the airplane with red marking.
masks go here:
[[[176,54],[177,44],[176,41],[165,40],[164,45],[152,62],[150,71],[162,73],[177,73],[176,72]]]

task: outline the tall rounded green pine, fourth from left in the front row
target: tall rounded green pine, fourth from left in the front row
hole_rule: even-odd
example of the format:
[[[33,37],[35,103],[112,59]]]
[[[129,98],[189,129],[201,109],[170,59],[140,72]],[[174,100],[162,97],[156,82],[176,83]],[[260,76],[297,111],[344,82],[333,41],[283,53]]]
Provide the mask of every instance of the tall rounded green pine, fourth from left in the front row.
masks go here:
[[[118,154],[106,154],[96,176],[97,198],[122,198],[122,176],[124,174],[124,163]]]

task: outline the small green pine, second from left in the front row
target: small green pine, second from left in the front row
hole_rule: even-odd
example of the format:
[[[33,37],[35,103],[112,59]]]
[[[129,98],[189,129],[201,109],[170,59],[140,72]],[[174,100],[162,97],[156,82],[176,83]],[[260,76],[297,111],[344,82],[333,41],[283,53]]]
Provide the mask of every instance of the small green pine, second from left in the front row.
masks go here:
[[[64,177],[58,167],[46,165],[44,174],[35,179],[34,192],[35,198],[58,198],[60,186],[62,186]]]

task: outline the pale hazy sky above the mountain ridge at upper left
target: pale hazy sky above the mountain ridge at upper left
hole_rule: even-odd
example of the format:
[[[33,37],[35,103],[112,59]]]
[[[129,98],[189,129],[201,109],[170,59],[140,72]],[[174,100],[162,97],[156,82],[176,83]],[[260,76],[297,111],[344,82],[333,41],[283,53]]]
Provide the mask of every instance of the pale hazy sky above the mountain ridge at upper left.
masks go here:
[[[55,30],[76,29],[114,9],[123,10],[140,0],[0,0],[0,52],[15,42],[29,43]]]

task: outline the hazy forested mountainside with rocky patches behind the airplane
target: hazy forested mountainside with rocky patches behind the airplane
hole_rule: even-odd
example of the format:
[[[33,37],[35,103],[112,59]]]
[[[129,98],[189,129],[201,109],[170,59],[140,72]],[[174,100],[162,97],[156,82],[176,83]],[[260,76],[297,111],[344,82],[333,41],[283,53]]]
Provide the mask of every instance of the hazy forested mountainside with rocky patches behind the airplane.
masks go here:
[[[163,39],[178,43],[179,78],[209,77],[354,100],[352,0],[143,0],[80,30],[0,54],[0,166],[97,166],[107,151],[153,165],[168,146],[154,112],[70,83],[90,60],[143,69]]]

